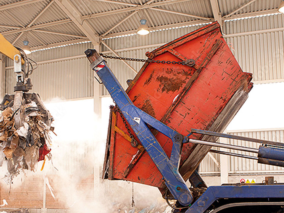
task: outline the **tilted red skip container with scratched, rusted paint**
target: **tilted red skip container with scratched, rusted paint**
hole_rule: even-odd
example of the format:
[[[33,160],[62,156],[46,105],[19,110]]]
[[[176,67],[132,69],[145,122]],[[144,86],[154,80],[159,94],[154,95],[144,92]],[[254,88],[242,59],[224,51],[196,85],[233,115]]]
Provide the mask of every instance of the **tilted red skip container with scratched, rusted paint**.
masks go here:
[[[145,63],[126,92],[138,108],[183,135],[191,128],[222,132],[252,88],[251,73],[241,70],[217,22],[181,36],[151,52],[149,59],[185,61],[187,65]],[[172,141],[152,130],[170,157]],[[132,134],[136,138],[134,132]],[[190,138],[216,141],[212,136]],[[143,146],[133,147],[122,117],[111,108],[104,178],[165,185]],[[180,174],[187,180],[211,147],[183,145]]]

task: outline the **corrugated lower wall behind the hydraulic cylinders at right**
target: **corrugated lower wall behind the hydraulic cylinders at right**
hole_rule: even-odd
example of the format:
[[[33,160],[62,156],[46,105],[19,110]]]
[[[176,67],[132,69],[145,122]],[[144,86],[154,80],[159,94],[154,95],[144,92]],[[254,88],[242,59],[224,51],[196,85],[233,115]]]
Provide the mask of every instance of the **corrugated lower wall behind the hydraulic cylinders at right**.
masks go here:
[[[243,131],[243,132],[229,132],[229,134],[232,135],[239,135],[244,137],[250,137],[250,138],[258,138],[263,140],[269,140],[269,141],[277,141],[284,143],[284,129],[277,129],[277,130],[251,130],[251,131]],[[234,144],[238,146],[247,146],[247,147],[253,147],[258,148],[259,143],[253,143],[248,141],[240,141],[240,140],[233,140],[233,139],[227,139],[228,144]],[[230,150],[234,153],[239,154],[245,154],[245,155],[252,155],[257,156],[255,153],[245,152],[245,151],[237,151],[237,150]],[[212,153],[215,156],[215,159],[220,163],[220,155]],[[284,172],[283,167],[277,167],[277,166],[270,166],[266,164],[258,164],[256,160],[252,159],[245,159],[240,157],[233,157],[228,156],[228,169],[229,174],[230,173],[247,173],[247,172]],[[200,164],[200,172],[201,174],[210,174],[210,173],[216,173],[220,172],[218,170],[218,167],[216,163],[210,158],[208,155],[203,159],[203,161]]]

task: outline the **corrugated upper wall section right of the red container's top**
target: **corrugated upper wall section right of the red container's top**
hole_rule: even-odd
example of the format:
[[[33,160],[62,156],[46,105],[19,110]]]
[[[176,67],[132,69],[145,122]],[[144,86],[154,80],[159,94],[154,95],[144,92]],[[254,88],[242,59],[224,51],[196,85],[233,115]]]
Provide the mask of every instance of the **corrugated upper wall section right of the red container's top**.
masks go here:
[[[226,38],[244,72],[253,73],[253,81],[284,78],[284,31]]]

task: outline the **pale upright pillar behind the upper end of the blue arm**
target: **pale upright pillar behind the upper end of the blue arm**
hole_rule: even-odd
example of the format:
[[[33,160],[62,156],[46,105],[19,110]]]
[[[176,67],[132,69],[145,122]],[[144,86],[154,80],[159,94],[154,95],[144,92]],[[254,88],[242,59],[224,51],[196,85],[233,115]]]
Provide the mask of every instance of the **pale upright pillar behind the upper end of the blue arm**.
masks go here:
[[[100,45],[94,45],[93,46],[96,51],[101,52],[101,46]],[[98,115],[99,118],[101,118],[101,92],[102,92],[102,85],[98,83],[96,78],[99,79],[99,76],[93,72],[93,98],[94,98],[94,112]]]

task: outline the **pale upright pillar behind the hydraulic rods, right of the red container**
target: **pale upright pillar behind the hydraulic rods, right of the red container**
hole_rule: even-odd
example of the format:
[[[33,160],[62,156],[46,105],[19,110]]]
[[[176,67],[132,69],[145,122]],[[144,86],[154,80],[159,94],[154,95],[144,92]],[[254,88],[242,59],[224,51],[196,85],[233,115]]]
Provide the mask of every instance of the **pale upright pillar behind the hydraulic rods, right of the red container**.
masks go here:
[[[224,131],[226,133],[226,130]],[[219,138],[220,143],[228,143],[227,138]],[[225,148],[220,148],[220,151],[227,151]],[[229,167],[228,167],[228,157],[227,155],[220,154],[220,176],[221,176],[221,183],[228,183],[228,174],[229,174]]]

